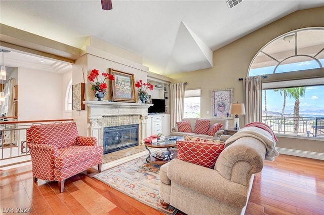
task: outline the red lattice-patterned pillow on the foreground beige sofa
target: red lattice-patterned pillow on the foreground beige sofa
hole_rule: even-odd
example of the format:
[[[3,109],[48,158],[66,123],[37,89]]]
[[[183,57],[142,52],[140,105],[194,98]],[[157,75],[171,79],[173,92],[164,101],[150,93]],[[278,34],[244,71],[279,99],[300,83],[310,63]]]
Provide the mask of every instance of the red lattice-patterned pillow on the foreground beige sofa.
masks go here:
[[[214,168],[219,154],[224,150],[224,144],[199,143],[193,141],[177,141],[178,159]]]

